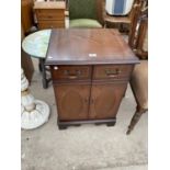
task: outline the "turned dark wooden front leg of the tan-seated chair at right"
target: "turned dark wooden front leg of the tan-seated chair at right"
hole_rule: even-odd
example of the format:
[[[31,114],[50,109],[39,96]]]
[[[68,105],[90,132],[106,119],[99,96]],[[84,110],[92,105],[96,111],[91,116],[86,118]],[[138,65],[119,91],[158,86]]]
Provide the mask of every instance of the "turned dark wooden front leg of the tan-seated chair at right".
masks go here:
[[[126,132],[126,135],[131,134],[131,132],[134,129],[135,125],[138,123],[141,114],[145,113],[146,111],[147,111],[146,109],[138,109],[138,106],[137,106],[136,112],[135,112],[135,114],[131,121],[131,124],[128,126],[128,129]]]

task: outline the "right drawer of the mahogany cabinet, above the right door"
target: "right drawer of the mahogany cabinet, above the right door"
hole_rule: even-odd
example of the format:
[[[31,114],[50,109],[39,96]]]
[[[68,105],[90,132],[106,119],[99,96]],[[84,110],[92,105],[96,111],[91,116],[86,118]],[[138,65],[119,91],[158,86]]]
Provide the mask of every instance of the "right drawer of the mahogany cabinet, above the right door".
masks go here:
[[[93,79],[128,79],[133,65],[94,66]]]

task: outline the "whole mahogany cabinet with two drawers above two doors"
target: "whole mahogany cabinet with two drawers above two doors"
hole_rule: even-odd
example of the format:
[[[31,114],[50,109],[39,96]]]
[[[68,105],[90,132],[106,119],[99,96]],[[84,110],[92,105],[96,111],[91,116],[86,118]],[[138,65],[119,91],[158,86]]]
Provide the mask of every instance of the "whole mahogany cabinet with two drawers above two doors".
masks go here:
[[[52,70],[59,128],[114,125],[136,63],[116,30],[53,30],[45,64]]]

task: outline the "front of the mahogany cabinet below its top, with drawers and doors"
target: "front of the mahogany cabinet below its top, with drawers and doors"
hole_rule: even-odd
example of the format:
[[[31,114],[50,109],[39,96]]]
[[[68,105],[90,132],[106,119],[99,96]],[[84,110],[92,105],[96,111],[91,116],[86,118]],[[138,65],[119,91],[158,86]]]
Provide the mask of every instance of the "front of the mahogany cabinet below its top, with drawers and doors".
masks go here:
[[[133,65],[50,66],[59,128],[114,125]]]

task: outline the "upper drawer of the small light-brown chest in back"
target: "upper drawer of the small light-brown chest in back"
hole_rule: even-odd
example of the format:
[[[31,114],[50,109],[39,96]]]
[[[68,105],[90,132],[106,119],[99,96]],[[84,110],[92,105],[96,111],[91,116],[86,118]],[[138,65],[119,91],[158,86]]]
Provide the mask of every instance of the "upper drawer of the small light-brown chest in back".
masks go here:
[[[65,20],[65,11],[64,10],[36,10],[37,20]]]

